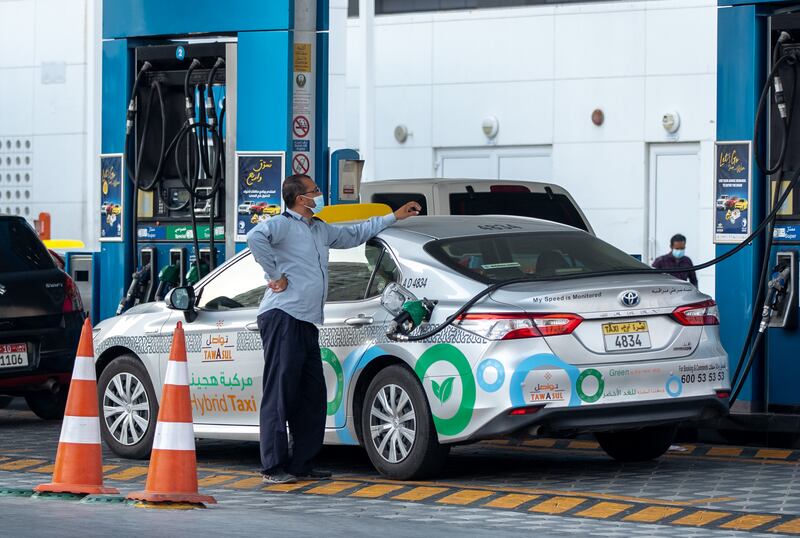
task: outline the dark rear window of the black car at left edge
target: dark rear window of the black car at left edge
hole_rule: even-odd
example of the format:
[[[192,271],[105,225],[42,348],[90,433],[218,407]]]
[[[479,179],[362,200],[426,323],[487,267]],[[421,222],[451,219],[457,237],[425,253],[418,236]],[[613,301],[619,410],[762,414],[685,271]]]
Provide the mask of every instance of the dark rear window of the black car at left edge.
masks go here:
[[[33,229],[22,219],[0,218],[0,273],[53,269],[55,263]],[[8,245],[8,248],[6,248]]]

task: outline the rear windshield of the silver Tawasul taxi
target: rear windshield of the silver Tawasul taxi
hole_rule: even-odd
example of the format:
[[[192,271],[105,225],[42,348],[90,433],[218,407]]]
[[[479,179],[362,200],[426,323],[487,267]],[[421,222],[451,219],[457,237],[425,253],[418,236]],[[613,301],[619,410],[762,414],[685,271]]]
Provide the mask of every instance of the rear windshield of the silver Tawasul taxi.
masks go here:
[[[553,278],[647,266],[584,232],[526,232],[442,239],[425,250],[481,282]]]

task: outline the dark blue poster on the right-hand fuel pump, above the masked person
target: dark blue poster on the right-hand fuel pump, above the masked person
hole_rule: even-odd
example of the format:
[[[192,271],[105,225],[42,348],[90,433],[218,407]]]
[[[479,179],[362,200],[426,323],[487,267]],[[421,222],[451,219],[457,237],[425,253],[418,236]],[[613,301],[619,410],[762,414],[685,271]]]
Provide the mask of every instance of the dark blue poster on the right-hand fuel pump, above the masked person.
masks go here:
[[[739,243],[751,230],[750,141],[715,145],[714,242]]]

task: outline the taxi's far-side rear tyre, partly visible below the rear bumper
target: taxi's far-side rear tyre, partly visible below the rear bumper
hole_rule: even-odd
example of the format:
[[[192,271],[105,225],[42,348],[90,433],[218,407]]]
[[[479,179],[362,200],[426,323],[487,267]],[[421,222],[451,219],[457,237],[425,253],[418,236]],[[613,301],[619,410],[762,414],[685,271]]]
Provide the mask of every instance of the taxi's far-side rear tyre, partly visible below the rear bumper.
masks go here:
[[[675,440],[676,431],[677,427],[671,424],[594,435],[600,447],[615,460],[637,462],[661,457]]]

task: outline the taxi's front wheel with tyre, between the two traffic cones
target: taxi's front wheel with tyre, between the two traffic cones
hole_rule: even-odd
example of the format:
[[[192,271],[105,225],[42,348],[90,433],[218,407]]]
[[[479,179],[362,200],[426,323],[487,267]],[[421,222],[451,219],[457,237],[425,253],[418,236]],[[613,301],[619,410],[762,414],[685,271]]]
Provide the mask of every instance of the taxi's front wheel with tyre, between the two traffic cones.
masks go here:
[[[97,399],[106,445],[123,458],[148,458],[156,433],[158,400],[142,362],[130,354],[111,361],[97,381]],[[106,411],[111,413],[106,416]]]

